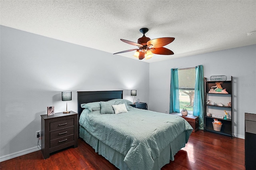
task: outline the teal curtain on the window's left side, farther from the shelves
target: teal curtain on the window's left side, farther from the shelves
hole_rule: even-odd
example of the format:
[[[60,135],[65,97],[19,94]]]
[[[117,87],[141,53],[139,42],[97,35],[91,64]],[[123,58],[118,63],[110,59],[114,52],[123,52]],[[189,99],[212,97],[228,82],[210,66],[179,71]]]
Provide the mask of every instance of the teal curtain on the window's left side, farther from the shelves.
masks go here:
[[[170,113],[180,113],[178,69],[171,69]]]

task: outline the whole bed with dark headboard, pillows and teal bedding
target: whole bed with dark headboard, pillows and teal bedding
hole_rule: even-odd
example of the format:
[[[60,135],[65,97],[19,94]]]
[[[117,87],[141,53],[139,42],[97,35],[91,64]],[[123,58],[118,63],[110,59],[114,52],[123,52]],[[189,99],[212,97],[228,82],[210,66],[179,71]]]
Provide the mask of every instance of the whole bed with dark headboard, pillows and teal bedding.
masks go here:
[[[114,110],[107,107],[113,103]],[[123,91],[78,91],[79,136],[121,170],[159,170],[185,147],[193,128],[179,116],[131,103]],[[126,111],[115,114],[121,106]]]

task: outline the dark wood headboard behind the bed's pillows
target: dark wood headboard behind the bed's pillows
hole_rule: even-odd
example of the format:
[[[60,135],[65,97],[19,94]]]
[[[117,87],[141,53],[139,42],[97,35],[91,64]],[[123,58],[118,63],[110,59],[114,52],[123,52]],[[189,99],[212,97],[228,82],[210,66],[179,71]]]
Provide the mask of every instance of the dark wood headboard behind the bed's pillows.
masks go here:
[[[81,107],[83,103],[90,103],[96,101],[109,101],[112,99],[123,99],[123,91],[78,91],[77,104],[78,104],[78,120],[84,108]]]

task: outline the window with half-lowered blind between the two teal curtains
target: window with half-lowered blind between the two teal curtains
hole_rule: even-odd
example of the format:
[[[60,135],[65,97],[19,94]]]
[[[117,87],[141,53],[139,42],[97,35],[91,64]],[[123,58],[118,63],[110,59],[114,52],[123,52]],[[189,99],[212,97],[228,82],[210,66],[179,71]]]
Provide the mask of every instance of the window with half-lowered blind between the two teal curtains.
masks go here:
[[[178,80],[180,112],[186,108],[189,114],[193,114],[196,69],[178,69]]]

